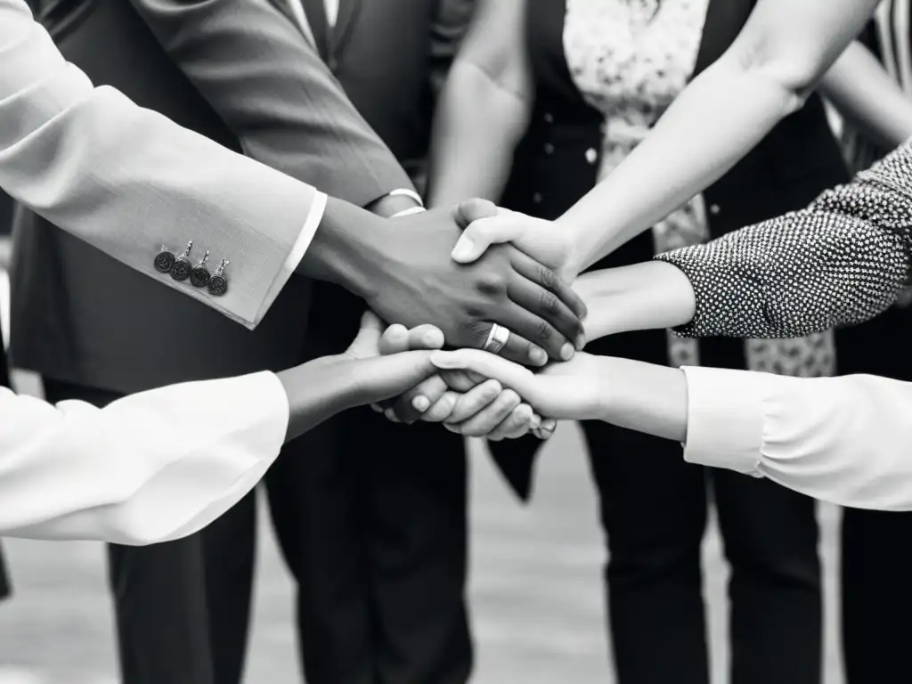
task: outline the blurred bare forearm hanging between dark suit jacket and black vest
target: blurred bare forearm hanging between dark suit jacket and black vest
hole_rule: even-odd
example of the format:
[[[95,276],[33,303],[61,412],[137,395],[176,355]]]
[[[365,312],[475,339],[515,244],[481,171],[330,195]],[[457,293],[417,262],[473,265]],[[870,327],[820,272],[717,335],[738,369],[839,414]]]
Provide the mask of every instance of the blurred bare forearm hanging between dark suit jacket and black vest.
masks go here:
[[[528,109],[522,96],[499,86],[472,62],[457,59],[434,120],[429,206],[470,197],[497,201],[525,132]]]

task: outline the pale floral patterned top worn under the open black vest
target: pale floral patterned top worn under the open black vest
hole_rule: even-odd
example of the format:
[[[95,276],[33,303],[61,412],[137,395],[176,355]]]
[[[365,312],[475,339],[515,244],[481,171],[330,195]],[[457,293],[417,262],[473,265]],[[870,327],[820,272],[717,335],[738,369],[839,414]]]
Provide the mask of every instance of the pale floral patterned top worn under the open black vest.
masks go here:
[[[700,51],[710,0],[566,0],[564,51],[576,87],[605,116],[599,179],[646,138],[678,97]],[[653,227],[657,254],[710,237],[698,195]],[[748,340],[748,368],[785,375],[834,373],[832,333]],[[696,340],[669,335],[673,366],[699,364]]]

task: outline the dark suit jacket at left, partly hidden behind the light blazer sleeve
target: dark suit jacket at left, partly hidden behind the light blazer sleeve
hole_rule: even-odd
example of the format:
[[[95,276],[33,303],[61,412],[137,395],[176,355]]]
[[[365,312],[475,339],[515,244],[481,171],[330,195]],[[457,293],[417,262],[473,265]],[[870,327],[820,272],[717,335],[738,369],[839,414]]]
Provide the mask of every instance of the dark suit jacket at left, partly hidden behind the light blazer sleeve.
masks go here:
[[[389,149],[285,16],[257,0],[42,0],[42,22],[97,84],[360,205],[408,187]],[[116,189],[114,189],[116,192]],[[302,216],[302,223],[306,217]],[[154,221],[154,217],[150,217]],[[131,392],[299,359],[293,277],[250,332],[34,215],[17,226],[16,363]],[[186,233],[192,239],[192,217]],[[184,245],[167,245],[181,251]],[[193,254],[194,261],[202,254]],[[237,261],[256,254],[212,254]]]

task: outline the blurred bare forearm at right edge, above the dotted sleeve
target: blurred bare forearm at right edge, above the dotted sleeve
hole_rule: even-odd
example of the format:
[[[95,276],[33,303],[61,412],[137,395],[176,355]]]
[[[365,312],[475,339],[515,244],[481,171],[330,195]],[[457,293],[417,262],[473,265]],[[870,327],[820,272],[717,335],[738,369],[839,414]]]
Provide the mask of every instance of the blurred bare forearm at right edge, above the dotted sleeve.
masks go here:
[[[836,60],[820,90],[844,119],[887,150],[912,137],[912,100],[861,43]]]

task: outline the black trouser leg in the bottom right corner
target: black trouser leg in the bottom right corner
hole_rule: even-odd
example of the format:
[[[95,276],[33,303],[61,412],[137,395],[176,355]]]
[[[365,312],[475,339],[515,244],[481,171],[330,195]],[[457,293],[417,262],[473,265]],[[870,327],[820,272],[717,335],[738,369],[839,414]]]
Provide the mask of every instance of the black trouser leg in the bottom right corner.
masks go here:
[[[847,684],[903,679],[912,643],[912,513],[845,509],[843,651]],[[897,679],[898,677],[898,679]]]

